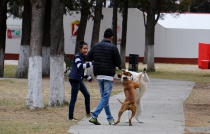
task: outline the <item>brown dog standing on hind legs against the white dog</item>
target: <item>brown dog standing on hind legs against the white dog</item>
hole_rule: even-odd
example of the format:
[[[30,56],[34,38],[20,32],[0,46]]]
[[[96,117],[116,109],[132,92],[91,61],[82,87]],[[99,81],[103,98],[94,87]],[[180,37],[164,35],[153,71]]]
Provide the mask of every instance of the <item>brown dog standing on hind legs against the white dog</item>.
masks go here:
[[[132,126],[131,119],[136,114],[136,88],[139,88],[140,86],[140,79],[142,74],[138,76],[138,82],[132,81],[132,74],[126,71],[123,71],[122,76],[123,77],[123,86],[124,86],[124,94],[125,94],[125,101],[121,102],[119,99],[118,101],[122,104],[120,111],[118,112],[118,120],[115,123],[118,124],[120,122],[120,117],[122,116],[122,113],[126,110],[131,110],[132,115],[129,118],[129,125]]]

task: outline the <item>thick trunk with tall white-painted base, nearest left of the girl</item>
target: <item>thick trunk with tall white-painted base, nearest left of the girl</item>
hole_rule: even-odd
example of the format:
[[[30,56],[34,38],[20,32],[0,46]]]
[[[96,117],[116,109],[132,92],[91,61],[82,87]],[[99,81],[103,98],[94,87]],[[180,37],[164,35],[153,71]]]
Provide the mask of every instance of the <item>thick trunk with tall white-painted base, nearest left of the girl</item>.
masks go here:
[[[64,90],[64,30],[63,14],[65,4],[60,0],[51,1],[50,27],[50,100],[49,106],[65,102]]]

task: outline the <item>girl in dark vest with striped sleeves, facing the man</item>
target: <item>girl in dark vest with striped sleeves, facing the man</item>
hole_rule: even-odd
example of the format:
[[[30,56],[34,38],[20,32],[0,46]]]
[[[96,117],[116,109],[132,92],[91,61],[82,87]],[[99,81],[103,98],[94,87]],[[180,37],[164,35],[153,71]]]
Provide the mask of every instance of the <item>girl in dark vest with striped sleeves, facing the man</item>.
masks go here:
[[[75,121],[74,107],[77,100],[78,92],[81,91],[85,97],[85,111],[86,115],[90,116],[90,94],[86,88],[83,79],[92,82],[92,78],[84,74],[84,69],[93,65],[93,62],[86,62],[85,55],[88,52],[88,45],[84,41],[79,43],[79,52],[75,54],[72,61],[72,69],[69,73],[69,82],[71,85],[71,99],[69,104],[69,120]]]

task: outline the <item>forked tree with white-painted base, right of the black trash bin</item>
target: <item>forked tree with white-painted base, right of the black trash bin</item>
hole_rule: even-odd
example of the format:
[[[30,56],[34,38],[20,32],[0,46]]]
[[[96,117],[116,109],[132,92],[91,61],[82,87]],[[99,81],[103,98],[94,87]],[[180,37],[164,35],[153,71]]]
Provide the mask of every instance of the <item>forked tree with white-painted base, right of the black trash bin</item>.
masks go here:
[[[155,71],[154,65],[154,38],[155,38],[155,25],[162,13],[167,12],[183,12],[183,8],[179,8],[177,0],[140,0],[136,6],[143,12],[144,25],[145,25],[145,51],[147,70]],[[147,49],[148,47],[148,49]]]

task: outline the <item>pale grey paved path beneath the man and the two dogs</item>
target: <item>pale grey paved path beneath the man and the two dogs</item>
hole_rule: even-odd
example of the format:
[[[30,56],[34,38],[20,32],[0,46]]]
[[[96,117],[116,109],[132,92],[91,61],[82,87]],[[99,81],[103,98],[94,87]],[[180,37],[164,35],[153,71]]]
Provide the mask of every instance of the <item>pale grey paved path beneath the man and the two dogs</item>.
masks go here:
[[[144,106],[140,115],[143,123],[132,119],[133,126],[125,123],[127,113],[121,116],[121,122],[110,126],[106,120],[105,112],[98,117],[101,125],[89,123],[83,118],[76,125],[70,127],[70,134],[183,134],[185,132],[185,118],[183,101],[187,99],[195,85],[194,82],[150,79],[148,90],[142,98]],[[113,89],[114,90],[114,89]],[[124,100],[124,93],[110,98],[112,115],[117,120],[121,104],[116,98]]]

